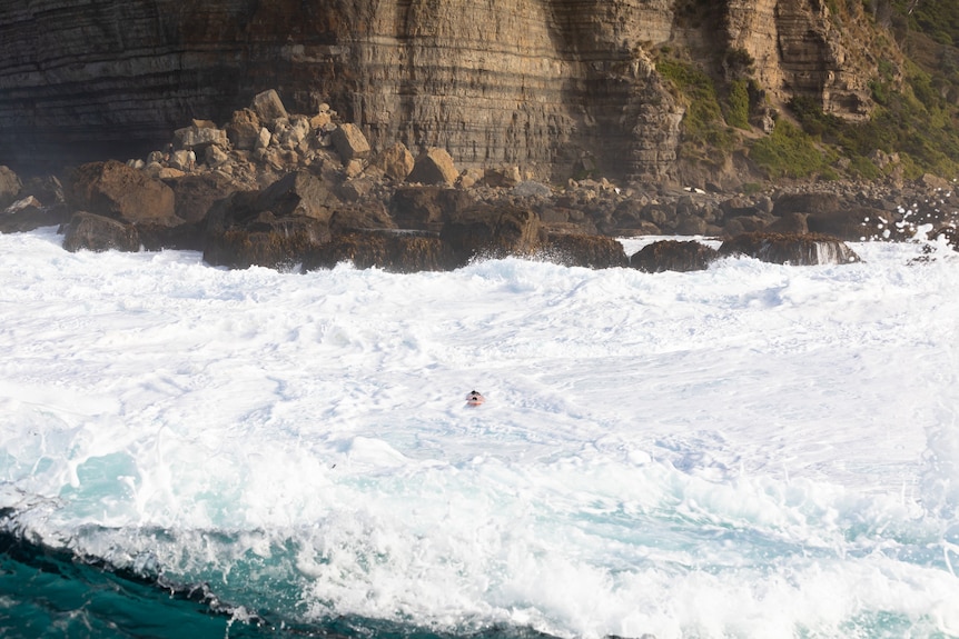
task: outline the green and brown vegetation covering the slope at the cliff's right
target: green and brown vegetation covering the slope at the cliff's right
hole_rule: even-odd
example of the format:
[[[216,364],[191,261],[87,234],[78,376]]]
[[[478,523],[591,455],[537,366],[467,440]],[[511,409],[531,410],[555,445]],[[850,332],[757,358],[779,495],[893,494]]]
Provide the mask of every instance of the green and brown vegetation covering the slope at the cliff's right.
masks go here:
[[[663,48],[656,70],[686,107],[681,159],[715,166],[741,152],[771,179],[959,176],[959,3],[829,0],[825,6],[838,28],[864,24],[869,31],[878,69],[869,82],[869,117],[844,119],[824,112],[819,100],[795,96],[771,111],[774,123],[759,133],[758,114],[770,104],[750,78],[752,60],[744,51],[729,50],[710,68]]]

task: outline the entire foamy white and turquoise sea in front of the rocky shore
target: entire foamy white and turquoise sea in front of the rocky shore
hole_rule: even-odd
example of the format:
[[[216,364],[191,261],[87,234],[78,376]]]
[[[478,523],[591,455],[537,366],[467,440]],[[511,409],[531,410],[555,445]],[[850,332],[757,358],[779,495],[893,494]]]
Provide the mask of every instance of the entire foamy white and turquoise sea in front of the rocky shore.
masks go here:
[[[0,236],[0,635],[959,637],[959,253],[853,248],[299,274]]]

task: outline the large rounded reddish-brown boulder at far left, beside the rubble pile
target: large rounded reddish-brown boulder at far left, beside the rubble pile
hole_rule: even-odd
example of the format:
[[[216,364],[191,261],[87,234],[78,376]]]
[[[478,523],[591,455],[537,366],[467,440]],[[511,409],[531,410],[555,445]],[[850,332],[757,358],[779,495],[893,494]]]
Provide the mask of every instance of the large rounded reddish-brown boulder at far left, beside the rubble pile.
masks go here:
[[[174,191],[160,180],[117,162],[90,162],[73,171],[67,193],[73,210],[125,222],[182,222],[176,217]]]

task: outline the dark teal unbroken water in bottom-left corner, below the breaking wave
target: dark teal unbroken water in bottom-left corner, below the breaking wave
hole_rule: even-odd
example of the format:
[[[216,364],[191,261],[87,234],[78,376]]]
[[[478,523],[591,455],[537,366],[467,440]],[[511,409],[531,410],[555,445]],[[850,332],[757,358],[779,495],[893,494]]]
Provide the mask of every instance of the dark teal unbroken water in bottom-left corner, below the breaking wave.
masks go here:
[[[328,637],[453,639],[415,626],[337,618],[294,622],[269,610],[238,611],[206,585],[172,583],[157,576],[115,570],[0,533],[0,635],[7,639],[234,639]],[[474,639],[537,639],[531,629],[494,628]]]

